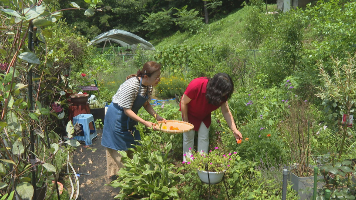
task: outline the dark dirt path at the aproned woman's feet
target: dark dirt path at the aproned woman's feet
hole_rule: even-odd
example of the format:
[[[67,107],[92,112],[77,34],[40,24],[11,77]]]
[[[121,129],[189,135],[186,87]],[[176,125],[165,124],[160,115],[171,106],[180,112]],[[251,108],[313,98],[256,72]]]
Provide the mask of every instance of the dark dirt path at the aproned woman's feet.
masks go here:
[[[118,194],[118,188],[109,185],[110,179],[106,173],[106,153],[105,147],[101,146],[102,129],[97,130],[98,138],[93,140],[93,144],[77,147],[73,155],[73,167],[77,174],[87,173],[90,175],[80,175],[80,191],[78,199],[114,199]]]

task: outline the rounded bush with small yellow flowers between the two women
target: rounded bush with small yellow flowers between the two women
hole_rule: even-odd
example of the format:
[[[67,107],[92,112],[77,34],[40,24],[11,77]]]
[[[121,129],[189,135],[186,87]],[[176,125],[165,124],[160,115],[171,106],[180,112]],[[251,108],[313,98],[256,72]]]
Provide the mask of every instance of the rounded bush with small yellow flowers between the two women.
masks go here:
[[[182,96],[187,86],[188,83],[183,78],[175,76],[162,77],[155,90],[160,98],[174,98],[175,96]]]

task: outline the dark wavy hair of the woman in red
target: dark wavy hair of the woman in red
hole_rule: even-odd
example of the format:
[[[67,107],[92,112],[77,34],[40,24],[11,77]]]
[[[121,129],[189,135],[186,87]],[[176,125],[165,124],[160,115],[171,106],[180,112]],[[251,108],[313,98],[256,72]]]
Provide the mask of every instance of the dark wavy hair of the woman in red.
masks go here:
[[[231,77],[226,73],[218,73],[209,79],[205,97],[209,103],[220,106],[231,97],[233,91],[234,83]]]

